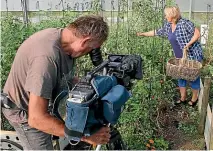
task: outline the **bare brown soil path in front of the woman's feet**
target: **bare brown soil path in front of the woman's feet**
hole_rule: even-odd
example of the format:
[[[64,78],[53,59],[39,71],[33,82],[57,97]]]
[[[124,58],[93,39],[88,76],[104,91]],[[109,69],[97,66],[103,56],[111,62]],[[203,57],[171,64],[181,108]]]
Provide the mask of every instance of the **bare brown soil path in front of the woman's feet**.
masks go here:
[[[169,142],[171,150],[203,150],[205,149],[204,137],[197,132],[187,134],[179,129],[180,123],[196,124],[190,119],[186,105],[172,106],[166,101],[158,107],[157,135],[163,136]]]

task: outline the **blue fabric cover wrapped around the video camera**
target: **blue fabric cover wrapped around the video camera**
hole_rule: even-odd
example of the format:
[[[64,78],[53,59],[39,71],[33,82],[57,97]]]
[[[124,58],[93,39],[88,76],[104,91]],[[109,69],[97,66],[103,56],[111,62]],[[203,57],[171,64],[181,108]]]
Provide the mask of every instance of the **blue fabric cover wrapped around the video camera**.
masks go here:
[[[76,103],[70,98],[66,101],[65,136],[68,140],[80,141],[84,135],[91,135],[90,127],[100,124],[95,117],[95,110],[91,108],[94,101],[102,101],[103,117],[108,123],[116,124],[122,106],[130,98],[125,87],[117,84],[114,76],[95,76],[91,84],[95,90],[92,99]]]

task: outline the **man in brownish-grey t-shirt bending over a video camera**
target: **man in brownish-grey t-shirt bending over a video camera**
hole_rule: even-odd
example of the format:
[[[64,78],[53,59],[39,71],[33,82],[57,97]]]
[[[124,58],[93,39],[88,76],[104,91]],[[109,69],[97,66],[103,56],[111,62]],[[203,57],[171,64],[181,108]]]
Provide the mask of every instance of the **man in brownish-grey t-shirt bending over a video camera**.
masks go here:
[[[2,108],[26,150],[53,150],[51,135],[64,137],[64,124],[48,106],[72,80],[74,58],[88,54],[107,39],[108,25],[100,16],[82,16],[64,29],[50,28],[30,36],[19,47],[4,93],[16,108]],[[103,127],[82,141],[106,144]]]

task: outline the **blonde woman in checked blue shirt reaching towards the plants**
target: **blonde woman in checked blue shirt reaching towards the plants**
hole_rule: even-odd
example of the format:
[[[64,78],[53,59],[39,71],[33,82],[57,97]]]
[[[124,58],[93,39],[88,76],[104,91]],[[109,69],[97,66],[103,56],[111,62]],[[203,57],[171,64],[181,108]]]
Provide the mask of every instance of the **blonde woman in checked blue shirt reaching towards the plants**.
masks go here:
[[[137,35],[167,37],[172,45],[176,58],[182,58],[183,48],[186,47],[188,49],[188,58],[201,62],[203,59],[203,54],[201,45],[198,42],[198,39],[200,38],[199,30],[191,21],[181,18],[180,10],[177,6],[166,7],[164,14],[167,22],[162,28],[156,31],[153,30],[149,32],[137,33]],[[186,84],[186,80],[178,80],[181,98],[176,100],[176,104],[186,103]],[[190,86],[192,88],[192,98],[188,104],[190,106],[195,106],[198,102],[200,77],[198,77],[195,81],[190,81]]]

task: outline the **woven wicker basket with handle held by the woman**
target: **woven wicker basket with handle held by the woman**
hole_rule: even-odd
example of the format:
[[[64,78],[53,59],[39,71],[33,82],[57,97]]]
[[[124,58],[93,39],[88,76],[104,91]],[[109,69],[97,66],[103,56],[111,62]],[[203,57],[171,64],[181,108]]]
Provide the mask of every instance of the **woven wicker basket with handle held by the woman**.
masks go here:
[[[167,62],[166,74],[174,79],[194,81],[200,75],[202,64],[196,60],[187,59],[187,49],[183,49],[183,58],[172,58]]]

